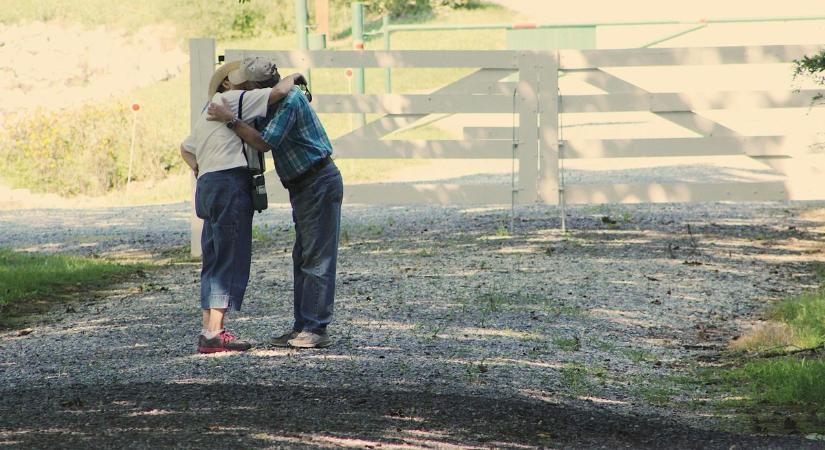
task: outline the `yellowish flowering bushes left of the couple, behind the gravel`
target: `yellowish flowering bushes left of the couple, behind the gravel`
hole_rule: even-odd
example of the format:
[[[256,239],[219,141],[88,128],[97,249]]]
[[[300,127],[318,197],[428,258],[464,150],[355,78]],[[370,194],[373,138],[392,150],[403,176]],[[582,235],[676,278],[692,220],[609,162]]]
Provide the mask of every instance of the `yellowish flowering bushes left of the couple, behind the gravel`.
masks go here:
[[[132,120],[123,103],[18,117],[0,137],[0,169],[15,186],[35,192],[105,194],[126,184]],[[137,123],[133,181],[164,178],[182,164],[177,143],[159,126]]]

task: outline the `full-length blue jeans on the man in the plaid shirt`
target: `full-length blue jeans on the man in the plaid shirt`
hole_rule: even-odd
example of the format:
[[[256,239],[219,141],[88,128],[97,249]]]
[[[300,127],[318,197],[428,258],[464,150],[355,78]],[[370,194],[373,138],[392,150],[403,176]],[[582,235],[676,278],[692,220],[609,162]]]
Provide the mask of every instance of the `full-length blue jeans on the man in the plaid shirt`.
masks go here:
[[[289,188],[295,331],[323,332],[332,320],[344,184],[335,164]]]

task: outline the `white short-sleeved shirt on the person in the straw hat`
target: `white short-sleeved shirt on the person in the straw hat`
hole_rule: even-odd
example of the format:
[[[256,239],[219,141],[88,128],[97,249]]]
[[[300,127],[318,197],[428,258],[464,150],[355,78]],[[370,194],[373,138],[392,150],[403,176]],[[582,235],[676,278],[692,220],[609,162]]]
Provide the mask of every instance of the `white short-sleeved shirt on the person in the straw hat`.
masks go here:
[[[267,102],[272,89],[246,91],[243,97],[243,121],[252,124],[256,117],[266,116]],[[238,100],[243,91],[227,91],[215,94],[212,102],[221,104],[221,98],[229,102],[235,116],[238,115]],[[190,134],[183,141],[183,149],[193,155],[198,162],[198,178],[209,172],[246,167],[241,138],[226,127],[223,122],[206,120],[204,108]]]

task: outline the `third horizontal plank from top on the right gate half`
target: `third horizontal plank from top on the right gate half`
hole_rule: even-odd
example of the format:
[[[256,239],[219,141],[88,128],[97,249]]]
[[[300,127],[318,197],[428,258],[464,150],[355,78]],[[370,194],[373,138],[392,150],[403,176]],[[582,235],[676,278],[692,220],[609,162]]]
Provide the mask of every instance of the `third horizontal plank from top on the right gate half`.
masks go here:
[[[572,139],[564,158],[646,158],[669,156],[783,156],[800,152],[798,137],[719,136],[661,139]]]

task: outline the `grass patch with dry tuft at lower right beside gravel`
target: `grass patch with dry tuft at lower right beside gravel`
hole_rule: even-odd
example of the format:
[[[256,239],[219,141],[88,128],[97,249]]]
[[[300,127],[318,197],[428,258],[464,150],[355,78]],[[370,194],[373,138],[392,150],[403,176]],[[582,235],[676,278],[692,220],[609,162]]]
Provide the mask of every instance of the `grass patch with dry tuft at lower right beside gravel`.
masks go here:
[[[818,269],[822,278],[821,269]],[[747,413],[757,431],[821,431],[825,427],[825,289],[791,297],[768,311],[770,321],[731,344],[744,355],[711,371],[717,402]],[[731,399],[731,393],[736,394]]]

